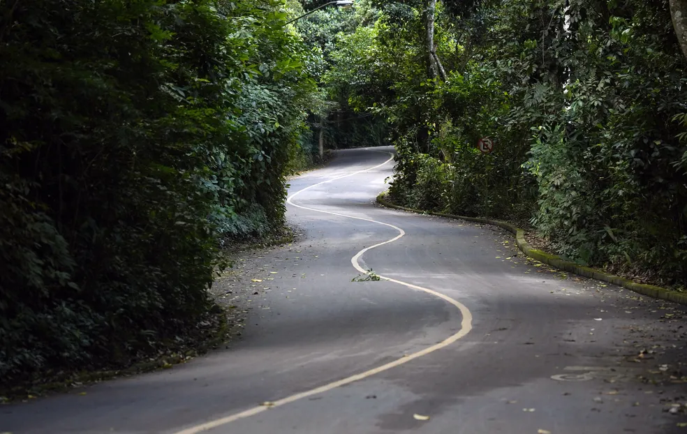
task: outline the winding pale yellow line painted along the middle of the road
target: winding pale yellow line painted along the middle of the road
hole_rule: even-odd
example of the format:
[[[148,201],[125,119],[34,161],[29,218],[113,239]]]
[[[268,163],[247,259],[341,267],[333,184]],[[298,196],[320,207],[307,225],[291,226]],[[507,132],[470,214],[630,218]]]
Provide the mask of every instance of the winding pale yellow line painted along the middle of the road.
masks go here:
[[[373,152],[382,152],[382,151],[373,151]],[[383,223],[383,222],[377,221],[377,220],[371,220],[369,218],[348,216],[346,214],[339,214],[339,213],[335,213],[332,211],[323,211],[321,209],[303,207],[302,205],[298,205],[298,204],[293,203],[293,198],[296,197],[297,195],[299,195],[300,193],[303,193],[306,190],[310,190],[311,188],[321,186],[322,184],[326,184],[327,182],[336,181],[337,179],[341,179],[341,178],[352,177],[353,175],[360,174],[363,172],[368,172],[369,170],[375,170],[378,167],[382,167],[383,165],[389,163],[391,160],[394,159],[393,154],[390,154],[387,152],[384,152],[383,154],[389,154],[391,156],[384,163],[381,163],[381,164],[376,165],[374,167],[369,167],[369,168],[364,169],[364,170],[358,170],[357,172],[341,175],[340,177],[327,179],[327,181],[318,182],[317,184],[313,184],[311,186],[308,186],[306,188],[302,188],[301,190],[298,190],[297,192],[293,193],[292,195],[290,195],[286,199],[286,202],[288,204],[293,205],[294,207],[297,207],[297,208],[307,209],[309,211],[317,211],[317,212],[324,213],[324,214],[332,214],[333,216],[355,218],[356,220],[364,220],[364,221],[368,221],[371,223],[378,223],[380,225],[392,227],[395,230],[399,231],[399,234],[396,237],[394,237],[388,241],[383,241],[382,243],[375,244],[374,246],[369,246],[367,248],[364,248],[364,249],[360,250],[360,252],[356,253],[355,256],[353,256],[350,259],[350,262],[351,262],[351,264],[353,264],[353,267],[355,267],[355,269],[357,271],[360,271],[363,274],[368,274],[368,271],[366,271],[364,268],[362,268],[360,266],[360,263],[358,262],[358,260],[360,260],[360,257],[362,257],[362,255],[365,252],[367,252],[367,250],[371,250],[373,248],[383,246],[384,244],[392,243],[392,242],[396,241],[397,239],[403,237],[406,234],[406,232],[404,230],[402,230],[400,227],[391,225],[389,223]],[[400,359],[390,361],[387,364],[383,364],[382,366],[378,366],[376,368],[370,369],[369,371],[364,371],[364,372],[359,373],[359,374],[351,375],[350,377],[342,378],[341,380],[337,380],[335,382],[331,382],[329,384],[325,384],[323,386],[316,387],[315,389],[302,391],[302,392],[300,392],[300,394],[295,394],[295,395],[287,396],[286,398],[281,398],[278,401],[273,401],[271,403],[272,405],[260,405],[258,407],[249,408],[248,410],[244,410],[242,412],[230,414],[227,417],[221,417],[219,419],[214,419],[213,421],[208,421],[208,422],[205,422],[203,424],[191,426],[190,428],[186,428],[182,431],[177,431],[175,434],[196,434],[196,433],[200,433],[202,431],[211,430],[213,428],[217,428],[217,427],[222,426],[222,425],[230,424],[231,422],[237,421],[238,419],[244,419],[246,417],[254,416],[258,413],[269,410],[272,407],[279,407],[280,405],[293,403],[294,401],[298,401],[300,399],[307,398],[309,396],[321,394],[325,391],[329,391],[332,389],[336,389],[337,387],[344,386],[345,384],[350,384],[352,382],[362,380],[364,378],[370,377],[371,375],[375,375],[375,374],[381,373],[383,371],[387,371],[391,368],[395,368],[397,366],[405,364],[408,361],[411,361],[413,359],[418,359],[419,357],[426,356],[427,354],[429,354],[431,352],[435,352],[436,350],[441,350],[441,348],[446,347],[448,345],[451,345],[455,341],[458,341],[460,338],[462,338],[463,336],[465,336],[466,334],[468,334],[472,330],[472,313],[470,312],[470,310],[468,310],[468,308],[466,308],[466,306],[464,306],[464,304],[461,304],[459,301],[452,299],[451,297],[448,297],[448,295],[441,294],[441,292],[436,292],[436,291],[430,290],[429,288],[426,288],[426,287],[413,285],[412,283],[402,282],[401,280],[396,280],[396,279],[388,278],[385,276],[379,276],[379,277],[384,279],[384,280],[388,280],[390,282],[393,282],[393,283],[398,283],[399,285],[404,285],[404,286],[409,287],[413,290],[427,292],[428,294],[432,294],[435,297],[438,297],[440,299],[448,301],[448,303],[452,304],[453,306],[456,306],[460,310],[461,316],[463,317],[463,319],[461,321],[461,329],[457,333],[452,334],[448,338],[445,338],[440,343],[436,343],[436,344],[432,345],[431,347],[427,347],[424,350],[414,352],[413,354],[407,354],[404,357],[401,357]]]

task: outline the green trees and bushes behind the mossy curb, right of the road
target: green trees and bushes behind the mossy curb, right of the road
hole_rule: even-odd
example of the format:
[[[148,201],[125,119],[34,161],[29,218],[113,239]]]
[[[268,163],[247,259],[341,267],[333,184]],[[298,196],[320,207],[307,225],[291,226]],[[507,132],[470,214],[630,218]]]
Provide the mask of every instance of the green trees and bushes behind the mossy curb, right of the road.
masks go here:
[[[396,200],[531,219],[573,260],[686,285],[687,76],[665,2],[440,2],[446,80],[427,1],[378,7],[325,80],[390,122]]]

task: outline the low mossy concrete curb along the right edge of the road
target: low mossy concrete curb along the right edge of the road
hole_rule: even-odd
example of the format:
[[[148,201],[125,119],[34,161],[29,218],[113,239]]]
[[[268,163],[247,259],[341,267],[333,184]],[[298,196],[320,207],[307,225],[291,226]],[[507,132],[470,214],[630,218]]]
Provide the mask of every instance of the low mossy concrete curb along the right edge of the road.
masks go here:
[[[527,241],[525,241],[524,230],[519,229],[518,227],[515,227],[514,225],[511,225],[508,222],[501,220],[489,220],[487,218],[455,216],[454,214],[436,213],[432,211],[422,211],[420,209],[401,207],[399,205],[394,205],[388,200],[386,200],[385,196],[386,192],[380,193],[377,196],[377,203],[383,205],[384,207],[402,209],[403,211],[411,211],[420,214],[429,214],[431,216],[459,218],[460,220],[467,220],[475,223],[483,223],[485,225],[503,227],[503,229],[515,235],[517,246],[520,250],[522,250],[522,253],[535,260],[538,260],[539,262],[549,264],[552,267],[568,271],[569,273],[578,274],[579,276],[584,276],[596,280],[602,280],[603,282],[612,283],[613,285],[618,285],[627,288],[630,291],[634,291],[639,294],[646,295],[648,297],[673,301],[674,303],[687,305],[687,294],[683,294],[682,292],[671,291],[663,287],[658,287],[654,285],[645,285],[644,283],[637,283],[633,280],[622,278],[619,276],[614,276],[612,274],[607,274],[597,269],[582,267],[581,265],[575,264],[575,262],[563,260],[559,256],[550,255],[549,253],[542,252],[542,250],[536,250],[534,248],[531,248],[529,244],[527,244]]]

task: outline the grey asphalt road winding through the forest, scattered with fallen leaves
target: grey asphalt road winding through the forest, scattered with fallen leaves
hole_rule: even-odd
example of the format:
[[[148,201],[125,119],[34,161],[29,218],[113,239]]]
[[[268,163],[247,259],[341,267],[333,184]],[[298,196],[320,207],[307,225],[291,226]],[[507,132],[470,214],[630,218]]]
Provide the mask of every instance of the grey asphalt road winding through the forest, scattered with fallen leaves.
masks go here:
[[[304,236],[242,262],[228,350],[2,405],[0,433],[687,433],[682,308],[376,206],[390,151],[293,179]]]

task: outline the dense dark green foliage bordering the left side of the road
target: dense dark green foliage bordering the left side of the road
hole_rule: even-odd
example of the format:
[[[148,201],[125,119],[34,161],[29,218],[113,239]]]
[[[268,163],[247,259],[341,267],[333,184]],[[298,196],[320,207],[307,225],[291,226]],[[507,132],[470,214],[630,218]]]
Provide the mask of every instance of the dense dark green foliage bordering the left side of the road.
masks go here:
[[[283,223],[309,52],[283,2],[0,6],[0,376],[128,364]]]

